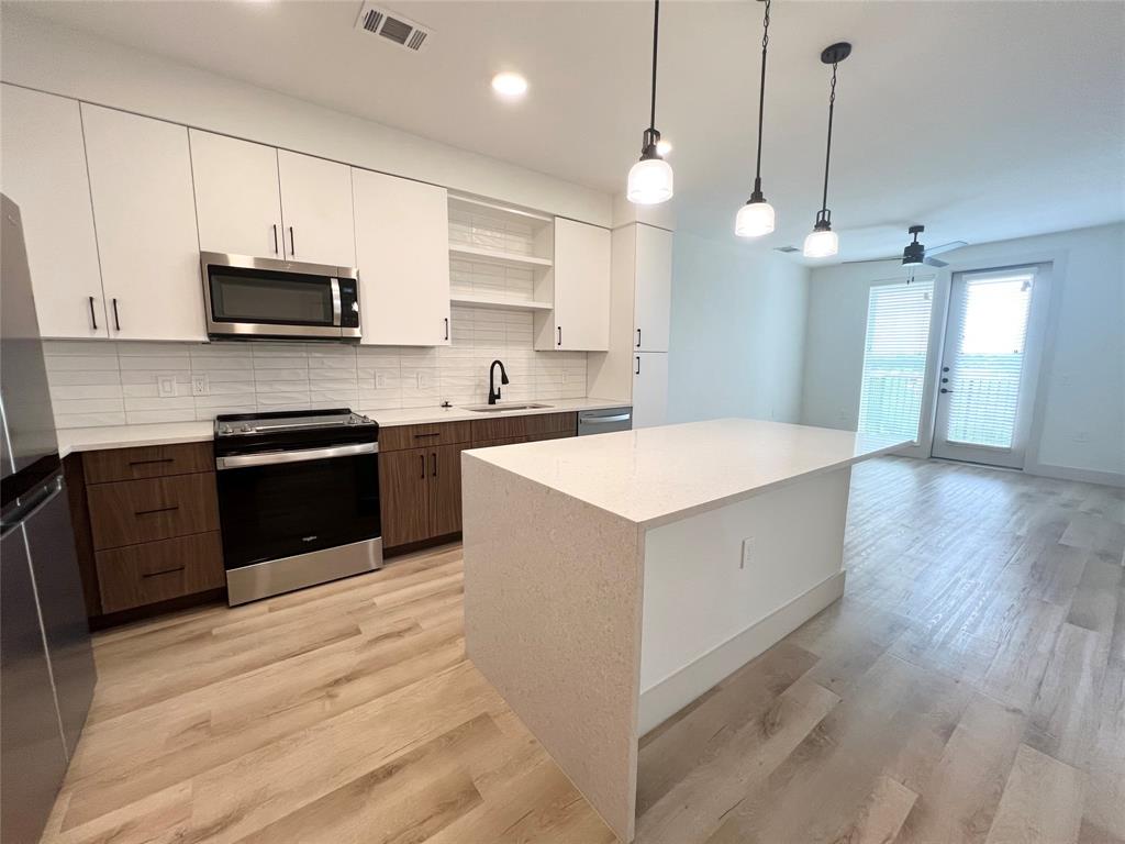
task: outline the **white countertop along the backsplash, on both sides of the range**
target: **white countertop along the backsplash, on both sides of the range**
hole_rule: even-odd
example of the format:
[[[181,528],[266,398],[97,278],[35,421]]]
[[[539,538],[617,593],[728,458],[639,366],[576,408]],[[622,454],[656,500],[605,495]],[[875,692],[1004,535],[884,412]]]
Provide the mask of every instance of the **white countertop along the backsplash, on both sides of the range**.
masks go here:
[[[504,404],[504,403],[502,403]],[[511,404],[522,404],[512,402]],[[412,407],[394,411],[375,411],[369,413],[380,427],[416,425],[433,422],[458,422],[466,419],[495,419],[503,416],[532,416],[541,413],[573,413],[575,411],[596,411],[604,407],[621,407],[619,401],[604,398],[558,398],[542,402],[543,407],[532,407],[522,411],[503,413],[480,413],[465,407]],[[165,422],[143,425],[108,425],[106,428],[64,428],[58,431],[58,455],[65,457],[72,451],[97,451],[107,448],[132,448],[135,446],[171,446],[178,442],[204,442],[215,433],[215,423],[204,422]]]

